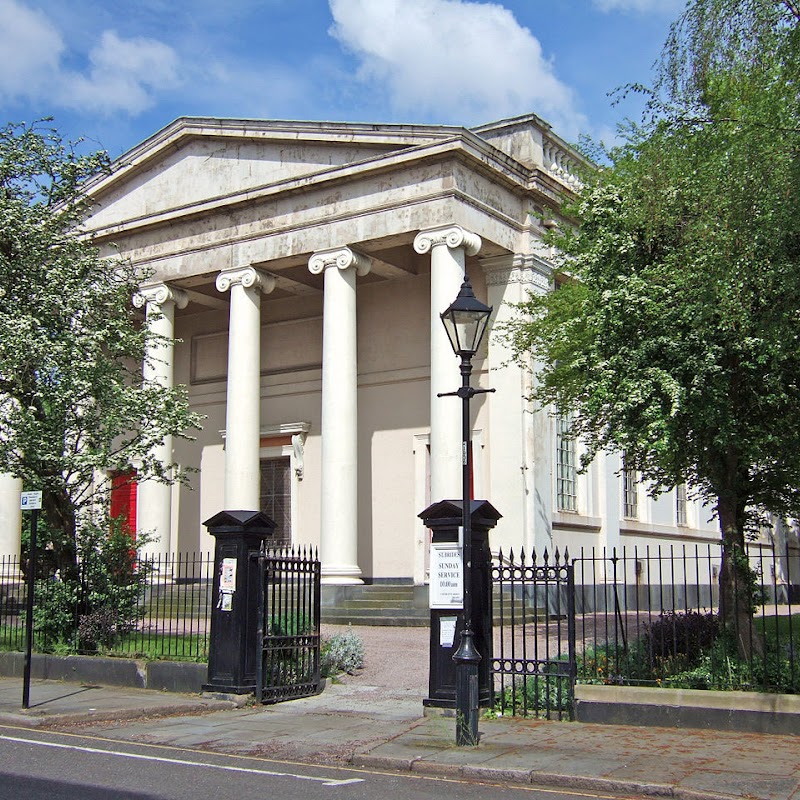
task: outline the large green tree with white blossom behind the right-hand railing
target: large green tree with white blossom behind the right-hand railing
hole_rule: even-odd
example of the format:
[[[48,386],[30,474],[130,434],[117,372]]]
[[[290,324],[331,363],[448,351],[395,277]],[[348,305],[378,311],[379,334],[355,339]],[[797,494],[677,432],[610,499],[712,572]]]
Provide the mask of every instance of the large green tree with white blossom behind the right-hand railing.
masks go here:
[[[725,622],[749,652],[759,513],[800,513],[798,14],[696,0],[648,116],[565,203],[559,288],[508,330],[538,398],[658,494],[713,505]]]

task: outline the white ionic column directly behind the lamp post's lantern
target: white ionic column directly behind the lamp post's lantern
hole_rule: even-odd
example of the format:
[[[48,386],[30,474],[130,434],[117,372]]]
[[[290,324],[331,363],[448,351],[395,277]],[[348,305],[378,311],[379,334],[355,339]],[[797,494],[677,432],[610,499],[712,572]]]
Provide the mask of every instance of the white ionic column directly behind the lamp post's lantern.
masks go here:
[[[440,314],[464,281],[464,256],[481,248],[477,234],[448,225],[420,231],[418,253],[431,254],[431,501],[461,497],[461,414],[459,401],[437,397],[461,386],[459,359],[453,353]]]

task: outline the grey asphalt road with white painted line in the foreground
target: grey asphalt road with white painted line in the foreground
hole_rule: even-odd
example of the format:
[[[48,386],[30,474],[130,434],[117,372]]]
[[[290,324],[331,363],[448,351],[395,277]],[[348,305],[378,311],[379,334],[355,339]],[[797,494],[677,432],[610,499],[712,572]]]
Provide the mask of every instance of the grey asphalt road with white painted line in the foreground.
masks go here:
[[[596,794],[313,767],[30,729],[0,729],[2,800],[579,800]]]

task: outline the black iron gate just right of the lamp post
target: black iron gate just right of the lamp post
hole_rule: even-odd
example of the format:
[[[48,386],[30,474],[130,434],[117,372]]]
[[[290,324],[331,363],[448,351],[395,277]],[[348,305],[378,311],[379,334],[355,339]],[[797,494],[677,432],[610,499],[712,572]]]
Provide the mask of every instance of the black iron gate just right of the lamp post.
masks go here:
[[[492,564],[494,708],[501,714],[572,719],[575,571],[569,554],[537,563],[502,551]]]

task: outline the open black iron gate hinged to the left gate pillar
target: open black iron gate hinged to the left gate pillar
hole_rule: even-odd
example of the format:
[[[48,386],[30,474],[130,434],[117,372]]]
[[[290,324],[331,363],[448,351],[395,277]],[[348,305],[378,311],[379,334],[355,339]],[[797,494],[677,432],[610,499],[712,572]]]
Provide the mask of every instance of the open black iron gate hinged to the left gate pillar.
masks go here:
[[[261,549],[258,555],[256,697],[278,703],[320,684],[320,561],[316,552]]]

